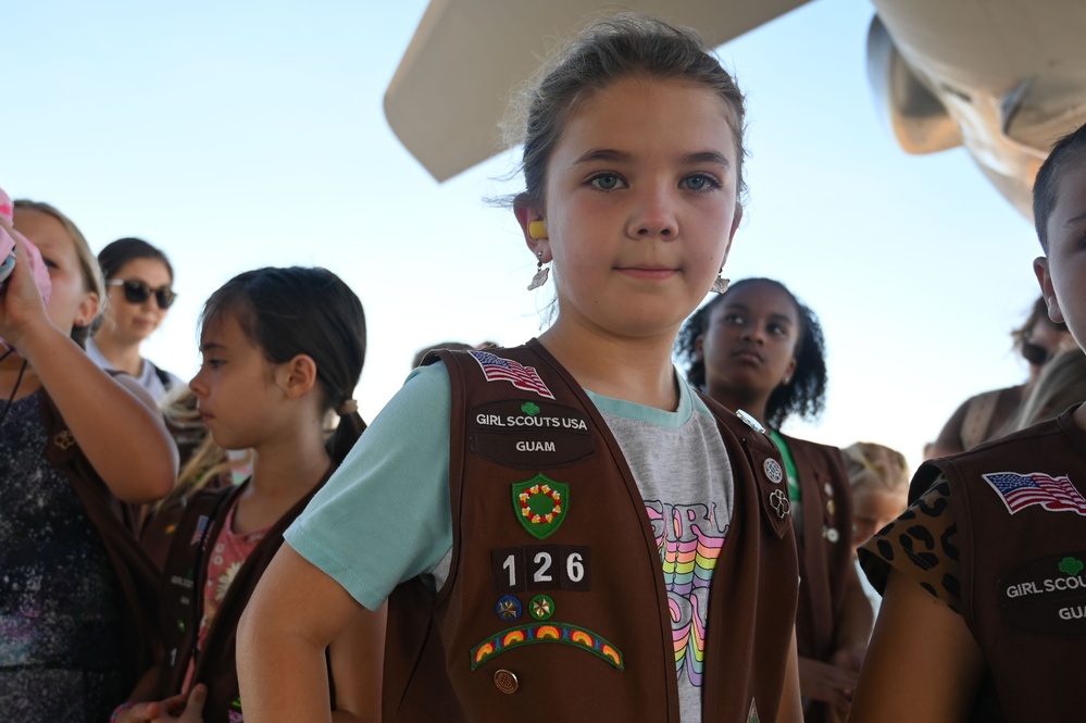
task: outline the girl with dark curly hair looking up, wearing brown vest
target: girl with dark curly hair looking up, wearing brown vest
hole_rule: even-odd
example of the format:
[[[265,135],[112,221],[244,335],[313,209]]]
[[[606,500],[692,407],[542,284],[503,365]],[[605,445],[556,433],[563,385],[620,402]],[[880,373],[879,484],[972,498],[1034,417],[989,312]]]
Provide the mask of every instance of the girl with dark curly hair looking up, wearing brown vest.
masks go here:
[[[746,278],[690,317],[678,353],[692,384],[764,423],[781,448],[799,541],[804,721],[842,721],[873,621],[852,565],[848,477],[836,447],[779,432],[790,416],[813,416],[825,403],[822,326],[779,282]]]

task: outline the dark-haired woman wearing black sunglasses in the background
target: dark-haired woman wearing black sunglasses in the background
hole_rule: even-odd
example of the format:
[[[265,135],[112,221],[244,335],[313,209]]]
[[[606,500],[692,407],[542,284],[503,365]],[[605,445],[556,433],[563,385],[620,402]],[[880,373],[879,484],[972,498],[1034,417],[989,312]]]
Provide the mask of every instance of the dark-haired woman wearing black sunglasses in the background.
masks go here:
[[[122,238],[98,253],[109,303],[101,327],[87,342],[87,353],[102,369],[132,374],[162,399],[180,379],[139,353],[174,302],[174,270],[161,250],[139,238]]]

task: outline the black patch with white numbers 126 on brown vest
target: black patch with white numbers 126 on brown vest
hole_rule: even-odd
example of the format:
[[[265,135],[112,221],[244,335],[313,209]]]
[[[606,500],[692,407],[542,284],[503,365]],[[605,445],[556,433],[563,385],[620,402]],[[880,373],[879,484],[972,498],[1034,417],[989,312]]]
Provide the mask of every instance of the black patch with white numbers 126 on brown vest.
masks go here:
[[[588,590],[591,549],[573,545],[505,547],[490,551],[495,591]]]

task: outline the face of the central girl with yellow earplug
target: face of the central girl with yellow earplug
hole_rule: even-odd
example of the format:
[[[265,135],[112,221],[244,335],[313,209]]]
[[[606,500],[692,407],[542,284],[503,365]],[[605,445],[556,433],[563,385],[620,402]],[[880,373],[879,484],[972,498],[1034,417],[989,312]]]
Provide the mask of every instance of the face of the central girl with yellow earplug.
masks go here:
[[[517,214],[553,261],[559,322],[674,338],[727,255],[736,169],[723,102],[702,86],[631,77],[585,99],[547,164],[546,209]],[[528,237],[535,220],[549,238]]]

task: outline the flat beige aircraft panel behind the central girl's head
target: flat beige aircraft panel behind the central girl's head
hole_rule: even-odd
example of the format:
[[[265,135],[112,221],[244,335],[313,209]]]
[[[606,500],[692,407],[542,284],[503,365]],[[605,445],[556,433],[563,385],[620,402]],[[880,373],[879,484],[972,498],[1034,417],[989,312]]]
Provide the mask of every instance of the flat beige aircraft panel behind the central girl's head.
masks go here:
[[[385,92],[385,116],[404,147],[445,180],[512,145],[499,129],[511,92],[591,17],[652,13],[720,46],[807,1],[432,0]]]

